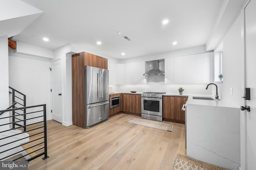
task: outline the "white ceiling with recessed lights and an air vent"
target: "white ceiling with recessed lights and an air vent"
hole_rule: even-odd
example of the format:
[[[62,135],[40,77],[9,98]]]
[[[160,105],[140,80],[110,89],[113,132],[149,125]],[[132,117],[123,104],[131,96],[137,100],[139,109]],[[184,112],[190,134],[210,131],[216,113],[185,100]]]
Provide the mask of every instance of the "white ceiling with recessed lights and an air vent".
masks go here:
[[[124,59],[206,45],[231,0],[22,0],[43,14],[13,40],[57,49],[74,43]],[[244,0],[236,8],[240,9]],[[237,14],[237,12],[236,12]],[[166,25],[163,20],[169,20]],[[230,19],[230,18],[229,18]],[[233,18],[234,19],[234,18]],[[232,19],[232,20],[233,20]],[[232,22],[232,21],[231,21]],[[122,32],[121,35],[117,32]],[[223,31],[223,30],[222,30]],[[31,37],[32,35],[37,38]],[[127,41],[123,36],[128,36]],[[49,42],[42,41],[48,37]],[[101,45],[96,42],[101,41]],[[177,41],[177,45],[172,45]],[[211,50],[211,49],[208,49]],[[124,56],[121,53],[125,53]]]

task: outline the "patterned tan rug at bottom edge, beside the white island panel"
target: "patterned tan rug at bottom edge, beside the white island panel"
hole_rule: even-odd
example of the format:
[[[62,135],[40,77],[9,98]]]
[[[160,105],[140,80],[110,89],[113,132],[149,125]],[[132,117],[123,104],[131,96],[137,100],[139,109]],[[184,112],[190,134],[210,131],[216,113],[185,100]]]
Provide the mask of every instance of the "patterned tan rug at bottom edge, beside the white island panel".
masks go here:
[[[227,170],[214,166],[211,164],[206,164],[196,159],[189,158],[182,154],[178,154],[174,161],[172,170]]]

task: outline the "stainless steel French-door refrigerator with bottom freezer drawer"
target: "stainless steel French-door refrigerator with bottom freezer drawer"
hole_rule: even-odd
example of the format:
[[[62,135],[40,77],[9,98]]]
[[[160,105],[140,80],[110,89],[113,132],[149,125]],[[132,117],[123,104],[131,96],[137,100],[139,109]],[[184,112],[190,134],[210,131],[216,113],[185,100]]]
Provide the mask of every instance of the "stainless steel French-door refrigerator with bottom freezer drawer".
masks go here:
[[[85,66],[85,128],[108,119],[108,70]]]

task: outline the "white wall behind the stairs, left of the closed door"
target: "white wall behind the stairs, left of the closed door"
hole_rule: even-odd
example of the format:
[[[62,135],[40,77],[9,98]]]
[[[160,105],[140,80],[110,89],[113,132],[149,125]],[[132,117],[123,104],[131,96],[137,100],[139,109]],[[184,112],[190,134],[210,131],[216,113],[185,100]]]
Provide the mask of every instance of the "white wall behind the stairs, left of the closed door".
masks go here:
[[[9,85],[26,95],[26,106],[46,104],[47,119],[51,119],[49,67],[49,59],[9,50]]]

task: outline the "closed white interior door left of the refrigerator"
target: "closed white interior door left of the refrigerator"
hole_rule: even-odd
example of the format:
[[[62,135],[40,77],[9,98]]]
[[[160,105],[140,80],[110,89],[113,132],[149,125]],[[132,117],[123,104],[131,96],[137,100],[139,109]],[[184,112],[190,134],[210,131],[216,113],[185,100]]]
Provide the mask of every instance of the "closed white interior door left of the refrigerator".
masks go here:
[[[52,119],[62,123],[62,71],[60,60],[52,62]]]

